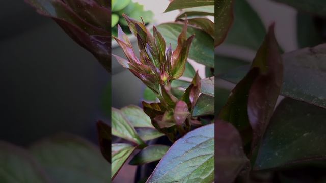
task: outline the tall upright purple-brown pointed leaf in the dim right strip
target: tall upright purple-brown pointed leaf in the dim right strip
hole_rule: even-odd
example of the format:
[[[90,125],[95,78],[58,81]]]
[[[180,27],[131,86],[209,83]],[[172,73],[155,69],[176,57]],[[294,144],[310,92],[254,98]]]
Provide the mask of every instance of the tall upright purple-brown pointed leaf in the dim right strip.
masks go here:
[[[262,137],[283,84],[283,63],[274,35],[274,25],[269,27],[262,46],[257,51],[252,68],[258,67],[259,76],[252,84],[248,96],[248,117],[253,128],[254,148]]]

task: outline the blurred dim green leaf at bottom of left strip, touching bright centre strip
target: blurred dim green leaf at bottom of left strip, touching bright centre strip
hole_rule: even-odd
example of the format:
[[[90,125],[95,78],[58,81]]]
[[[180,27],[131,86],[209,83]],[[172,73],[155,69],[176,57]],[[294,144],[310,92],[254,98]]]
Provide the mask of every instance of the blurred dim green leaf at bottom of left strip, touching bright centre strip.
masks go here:
[[[30,152],[55,182],[110,181],[110,163],[98,147],[74,135],[57,135],[34,143]]]

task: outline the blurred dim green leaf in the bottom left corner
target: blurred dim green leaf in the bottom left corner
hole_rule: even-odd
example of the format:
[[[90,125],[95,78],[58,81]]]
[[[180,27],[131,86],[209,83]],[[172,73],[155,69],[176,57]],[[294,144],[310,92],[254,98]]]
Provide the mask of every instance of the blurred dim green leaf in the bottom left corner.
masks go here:
[[[49,183],[41,165],[28,151],[0,141],[0,182]]]

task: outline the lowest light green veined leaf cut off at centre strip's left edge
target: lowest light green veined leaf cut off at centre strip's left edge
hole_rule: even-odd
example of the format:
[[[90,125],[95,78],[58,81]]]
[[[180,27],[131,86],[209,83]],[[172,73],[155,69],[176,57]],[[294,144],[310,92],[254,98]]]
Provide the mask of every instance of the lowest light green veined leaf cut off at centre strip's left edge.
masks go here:
[[[111,180],[117,175],[118,171],[136,149],[136,147],[126,143],[116,143],[111,145],[112,149],[112,165]]]

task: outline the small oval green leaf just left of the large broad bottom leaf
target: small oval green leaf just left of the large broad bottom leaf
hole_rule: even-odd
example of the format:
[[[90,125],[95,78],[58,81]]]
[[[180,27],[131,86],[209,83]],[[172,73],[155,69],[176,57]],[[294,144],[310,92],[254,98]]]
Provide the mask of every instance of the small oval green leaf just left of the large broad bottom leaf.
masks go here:
[[[129,164],[142,165],[160,160],[167,153],[169,148],[170,147],[166,145],[149,145],[136,154]]]

